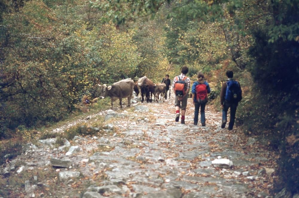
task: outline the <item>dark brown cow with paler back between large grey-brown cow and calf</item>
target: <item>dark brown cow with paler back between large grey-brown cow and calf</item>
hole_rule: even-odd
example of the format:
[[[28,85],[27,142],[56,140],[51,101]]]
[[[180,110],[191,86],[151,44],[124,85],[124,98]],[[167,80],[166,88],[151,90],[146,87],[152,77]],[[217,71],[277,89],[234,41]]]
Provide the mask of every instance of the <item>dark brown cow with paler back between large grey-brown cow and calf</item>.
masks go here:
[[[147,102],[152,102],[152,93],[154,91],[154,84],[146,76],[138,79],[138,90],[141,95],[141,102],[144,101],[144,95],[147,98]]]

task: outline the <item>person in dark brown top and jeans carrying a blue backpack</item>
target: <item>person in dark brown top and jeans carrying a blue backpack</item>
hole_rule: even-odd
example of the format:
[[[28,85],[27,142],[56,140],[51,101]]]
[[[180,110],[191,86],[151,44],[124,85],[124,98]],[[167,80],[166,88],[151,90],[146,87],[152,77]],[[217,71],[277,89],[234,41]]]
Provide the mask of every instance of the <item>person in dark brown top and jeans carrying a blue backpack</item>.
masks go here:
[[[233,80],[234,72],[228,70],[226,72],[228,80],[222,84],[220,92],[220,104],[222,106],[222,124],[221,128],[225,128],[227,122],[228,108],[231,108],[231,117],[228,123],[228,130],[232,130],[235,123],[237,106],[242,100],[242,89],[238,81]]]

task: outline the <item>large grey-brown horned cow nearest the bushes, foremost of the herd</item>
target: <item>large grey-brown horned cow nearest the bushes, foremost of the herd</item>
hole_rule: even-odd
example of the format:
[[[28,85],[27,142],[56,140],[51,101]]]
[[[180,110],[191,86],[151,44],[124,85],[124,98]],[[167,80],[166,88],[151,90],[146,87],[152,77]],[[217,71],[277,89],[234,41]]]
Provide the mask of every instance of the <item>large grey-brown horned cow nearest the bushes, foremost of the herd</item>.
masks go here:
[[[109,96],[111,99],[111,108],[113,108],[113,101],[119,99],[120,108],[123,108],[121,100],[123,98],[128,98],[128,106],[131,105],[131,98],[133,95],[134,81],[131,78],[120,80],[113,83],[111,86],[99,85],[99,97],[105,98]]]

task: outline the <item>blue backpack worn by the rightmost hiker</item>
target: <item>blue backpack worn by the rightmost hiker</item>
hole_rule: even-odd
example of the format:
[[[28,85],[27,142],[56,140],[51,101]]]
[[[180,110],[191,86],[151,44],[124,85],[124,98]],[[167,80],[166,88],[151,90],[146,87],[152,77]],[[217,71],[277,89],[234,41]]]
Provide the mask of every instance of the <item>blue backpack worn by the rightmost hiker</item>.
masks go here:
[[[227,81],[225,100],[231,103],[238,103],[242,100],[242,90],[239,83],[234,80]]]

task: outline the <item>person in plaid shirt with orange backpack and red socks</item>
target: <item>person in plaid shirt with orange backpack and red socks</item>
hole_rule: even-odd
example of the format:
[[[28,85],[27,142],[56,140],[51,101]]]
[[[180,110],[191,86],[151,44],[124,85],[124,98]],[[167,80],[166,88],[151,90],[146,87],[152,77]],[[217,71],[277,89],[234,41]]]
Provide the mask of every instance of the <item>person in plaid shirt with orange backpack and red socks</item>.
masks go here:
[[[189,68],[183,66],[181,68],[181,74],[174,77],[172,87],[175,93],[175,106],[176,106],[176,122],[180,119],[181,109],[181,124],[185,124],[185,113],[187,107],[188,93],[190,90],[190,78],[186,76]]]

